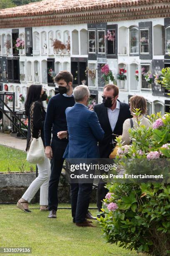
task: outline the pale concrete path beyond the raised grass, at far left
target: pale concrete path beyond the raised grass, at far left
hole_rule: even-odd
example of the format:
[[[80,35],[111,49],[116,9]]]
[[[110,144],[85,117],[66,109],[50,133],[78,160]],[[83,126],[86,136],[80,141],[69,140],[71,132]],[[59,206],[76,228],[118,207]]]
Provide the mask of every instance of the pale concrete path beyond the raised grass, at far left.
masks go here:
[[[25,151],[27,140],[0,133],[0,144]]]

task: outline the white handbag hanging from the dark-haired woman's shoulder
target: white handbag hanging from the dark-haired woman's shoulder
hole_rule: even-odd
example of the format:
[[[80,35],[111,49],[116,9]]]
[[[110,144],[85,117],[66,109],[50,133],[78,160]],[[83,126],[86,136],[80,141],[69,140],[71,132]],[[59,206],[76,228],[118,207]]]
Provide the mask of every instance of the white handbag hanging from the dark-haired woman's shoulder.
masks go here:
[[[31,140],[30,140],[30,148],[27,154],[27,161],[30,164],[42,164],[45,161],[45,152],[44,145],[42,142],[42,138],[40,136],[40,131],[38,134],[38,138],[33,138],[33,110],[34,110],[35,102],[32,103],[30,110],[30,128],[31,128]]]

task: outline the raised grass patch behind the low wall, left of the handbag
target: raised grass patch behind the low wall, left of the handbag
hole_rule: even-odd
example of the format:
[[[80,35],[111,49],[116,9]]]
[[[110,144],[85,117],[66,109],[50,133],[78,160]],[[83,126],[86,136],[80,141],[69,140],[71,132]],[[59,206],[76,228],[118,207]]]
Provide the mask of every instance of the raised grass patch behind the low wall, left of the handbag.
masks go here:
[[[26,158],[26,152],[0,145],[0,172],[35,171],[35,164],[29,164]]]

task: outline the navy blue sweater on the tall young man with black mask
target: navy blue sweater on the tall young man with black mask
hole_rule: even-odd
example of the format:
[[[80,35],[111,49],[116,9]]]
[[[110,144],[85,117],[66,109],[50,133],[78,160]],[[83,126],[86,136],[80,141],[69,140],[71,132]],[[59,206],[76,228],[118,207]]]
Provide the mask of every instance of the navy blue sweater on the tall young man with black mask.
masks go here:
[[[60,93],[49,100],[44,123],[45,146],[50,146],[51,132],[54,138],[58,138],[59,131],[67,131],[65,110],[74,104],[74,97],[65,97]]]

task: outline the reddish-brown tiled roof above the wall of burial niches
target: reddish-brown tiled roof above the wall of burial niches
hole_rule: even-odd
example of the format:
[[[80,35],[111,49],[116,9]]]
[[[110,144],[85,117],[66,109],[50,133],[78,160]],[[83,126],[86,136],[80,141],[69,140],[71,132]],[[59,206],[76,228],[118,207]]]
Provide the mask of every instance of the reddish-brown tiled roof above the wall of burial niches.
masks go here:
[[[0,28],[169,16],[170,0],[43,0],[0,10]]]

